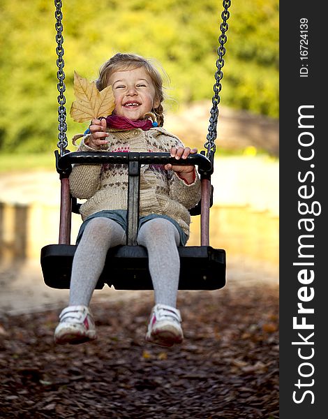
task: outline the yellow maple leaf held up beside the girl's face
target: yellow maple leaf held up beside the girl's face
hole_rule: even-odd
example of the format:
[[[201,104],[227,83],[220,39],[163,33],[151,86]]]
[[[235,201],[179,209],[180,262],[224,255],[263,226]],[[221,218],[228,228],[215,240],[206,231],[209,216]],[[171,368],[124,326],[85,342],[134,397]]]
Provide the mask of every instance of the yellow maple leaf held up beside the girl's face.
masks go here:
[[[112,86],[98,91],[95,82],[88,82],[74,71],[74,94],[76,100],[70,107],[70,116],[76,122],[107,117],[115,108]]]

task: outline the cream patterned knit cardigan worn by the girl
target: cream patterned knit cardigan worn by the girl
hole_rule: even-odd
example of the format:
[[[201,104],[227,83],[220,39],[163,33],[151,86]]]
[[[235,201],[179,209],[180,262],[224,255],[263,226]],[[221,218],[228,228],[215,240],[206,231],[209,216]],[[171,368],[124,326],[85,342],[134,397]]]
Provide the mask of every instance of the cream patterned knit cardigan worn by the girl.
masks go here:
[[[179,138],[164,128],[140,128],[122,131],[107,130],[108,143],[101,149],[86,144],[84,136],[80,152],[170,152],[172,147],[184,147]],[[75,164],[70,174],[70,193],[86,202],[80,207],[82,219],[102,210],[126,210],[128,197],[128,168],[121,164]],[[191,216],[188,212],[200,201],[200,179],[186,184],[173,170],[163,165],[145,165],[140,169],[140,216],[163,214],[179,223],[189,237]]]

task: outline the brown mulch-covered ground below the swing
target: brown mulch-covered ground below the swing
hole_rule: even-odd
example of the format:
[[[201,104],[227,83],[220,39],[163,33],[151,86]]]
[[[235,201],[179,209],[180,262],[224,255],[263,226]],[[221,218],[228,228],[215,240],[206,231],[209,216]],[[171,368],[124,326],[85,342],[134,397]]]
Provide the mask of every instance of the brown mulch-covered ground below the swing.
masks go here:
[[[278,418],[278,287],[181,292],[185,340],[144,343],[151,293],[91,306],[98,340],[55,346],[59,311],[0,318],[0,418]]]

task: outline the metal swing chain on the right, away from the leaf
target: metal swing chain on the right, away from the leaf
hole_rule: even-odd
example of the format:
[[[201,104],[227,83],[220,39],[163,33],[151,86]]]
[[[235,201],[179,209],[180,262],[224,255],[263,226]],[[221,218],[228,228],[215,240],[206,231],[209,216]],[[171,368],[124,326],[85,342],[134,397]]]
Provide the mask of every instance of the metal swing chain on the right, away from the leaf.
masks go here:
[[[204,147],[207,149],[207,157],[211,159],[213,154],[216,151],[216,135],[217,130],[216,126],[218,124],[218,103],[220,103],[220,91],[222,89],[221,80],[223,78],[222,68],[224,66],[224,59],[223,56],[225,54],[225,43],[227,42],[227,36],[225,32],[228,31],[229,25],[227,20],[230,17],[230,13],[228,8],[231,6],[231,0],[223,0],[223,12],[221,13],[221,17],[223,22],[220,25],[221,35],[218,38],[218,42],[220,46],[218,47],[218,59],[216,60],[216,68],[217,71],[215,73],[215,80],[216,83],[214,84],[214,96],[212,98],[212,108],[211,108],[211,116],[209,117],[209,132],[207,133],[207,142],[205,142]]]

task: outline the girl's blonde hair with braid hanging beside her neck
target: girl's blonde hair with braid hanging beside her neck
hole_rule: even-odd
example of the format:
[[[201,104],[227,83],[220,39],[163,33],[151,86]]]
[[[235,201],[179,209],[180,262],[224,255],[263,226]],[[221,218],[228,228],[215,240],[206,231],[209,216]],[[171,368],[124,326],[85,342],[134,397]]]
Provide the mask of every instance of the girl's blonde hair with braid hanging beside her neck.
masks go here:
[[[158,126],[163,126],[164,115],[163,106],[161,104],[165,98],[163,92],[163,78],[157,68],[151,64],[149,59],[145,59],[137,54],[122,54],[120,52],[115,54],[100,67],[99,78],[96,80],[96,87],[99,91],[105,89],[108,85],[110,76],[115,71],[125,71],[140,67],[143,67],[147,71],[151,81],[154,83],[155,99],[159,102],[159,105],[156,109],[152,109],[151,112],[155,114]]]

